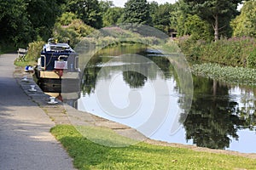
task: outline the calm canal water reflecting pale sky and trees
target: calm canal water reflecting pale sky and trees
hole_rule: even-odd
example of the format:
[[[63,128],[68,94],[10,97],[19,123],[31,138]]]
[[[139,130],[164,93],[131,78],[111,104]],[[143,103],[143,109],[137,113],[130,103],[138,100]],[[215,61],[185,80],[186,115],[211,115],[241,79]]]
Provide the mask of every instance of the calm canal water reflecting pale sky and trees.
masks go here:
[[[124,65],[136,65],[116,60],[122,54],[137,54],[148,59],[143,66],[148,72],[145,76],[137,71],[124,70]],[[150,62],[158,65],[158,71],[151,71]],[[146,66],[145,66],[146,65]],[[148,65],[148,67],[147,67]],[[183,94],[172,64],[160,52],[150,48],[134,46],[106,48],[96,53],[84,68],[81,95],[78,109],[96,116],[120,122],[130,127],[141,126],[154,110],[157,88],[154,82],[165,82],[168,93],[161,94],[170,100],[168,113],[157,126],[151,139],[170,143],[195,144],[201,147],[223,150],[236,150],[256,153],[256,88],[231,85],[193,75],[194,94],[190,110],[181,113]],[[125,108],[132,103],[131,92],[139,94],[137,110],[129,116],[112,115],[106,111],[99,99],[102,88],[108,91],[108,99],[117,108]],[[106,99],[106,103],[109,103]],[[107,109],[108,110],[108,109]],[[178,113],[179,127],[175,132],[173,113]]]

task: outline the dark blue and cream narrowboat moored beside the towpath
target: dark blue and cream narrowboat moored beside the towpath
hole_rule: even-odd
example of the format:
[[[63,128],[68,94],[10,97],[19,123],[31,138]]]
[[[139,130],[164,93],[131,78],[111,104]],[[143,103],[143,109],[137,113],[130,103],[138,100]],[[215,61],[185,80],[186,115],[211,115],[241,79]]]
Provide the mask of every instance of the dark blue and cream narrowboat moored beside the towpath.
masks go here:
[[[50,38],[44,44],[34,76],[43,91],[79,91],[79,55],[67,42],[59,43],[55,38]]]

